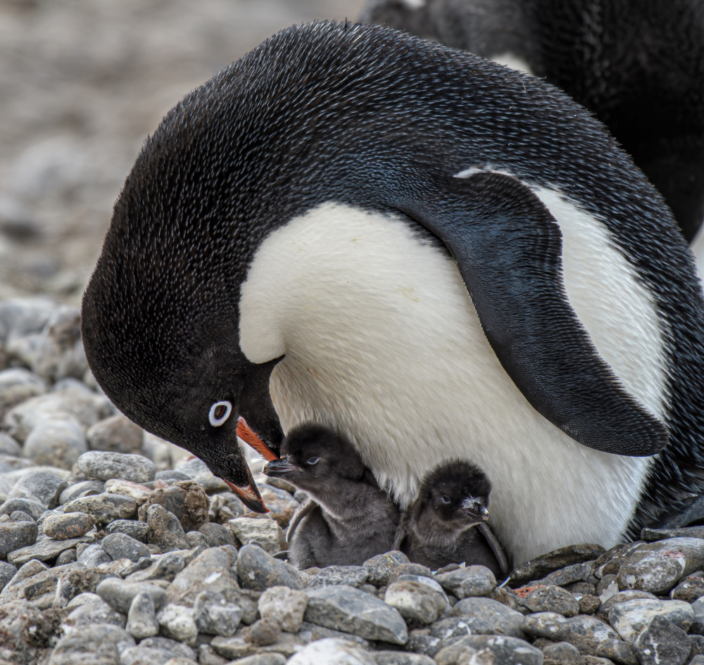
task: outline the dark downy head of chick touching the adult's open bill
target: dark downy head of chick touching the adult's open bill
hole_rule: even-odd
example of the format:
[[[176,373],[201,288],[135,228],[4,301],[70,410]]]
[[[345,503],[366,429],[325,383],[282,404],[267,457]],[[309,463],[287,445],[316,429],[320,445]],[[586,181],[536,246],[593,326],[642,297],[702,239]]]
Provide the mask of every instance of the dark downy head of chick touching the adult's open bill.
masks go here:
[[[365,466],[343,436],[324,425],[306,423],[292,429],[281,444],[281,459],[264,467],[320,498],[339,495],[339,479],[360,480]]]

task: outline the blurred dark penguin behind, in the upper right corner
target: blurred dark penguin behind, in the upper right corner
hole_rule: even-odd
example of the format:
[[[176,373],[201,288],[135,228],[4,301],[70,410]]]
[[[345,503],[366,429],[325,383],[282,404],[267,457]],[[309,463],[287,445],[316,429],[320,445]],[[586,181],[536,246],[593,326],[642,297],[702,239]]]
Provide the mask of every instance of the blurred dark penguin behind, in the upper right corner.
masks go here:
[[[694,238],[704,221],[700,0],[371,0],[361,20],[565,90],[608,127]]]

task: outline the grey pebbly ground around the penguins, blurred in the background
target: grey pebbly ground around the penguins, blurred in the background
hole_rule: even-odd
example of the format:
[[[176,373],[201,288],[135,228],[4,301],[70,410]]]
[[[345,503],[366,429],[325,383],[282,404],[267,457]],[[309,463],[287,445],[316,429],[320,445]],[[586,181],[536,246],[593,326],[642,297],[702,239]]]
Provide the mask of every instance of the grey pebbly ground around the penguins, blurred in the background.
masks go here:
[[[97,388],[77,303],[146,133],[275,30],[362,4],[0,1],[0,665],[704,663],[702,526],[507,583],[401,552],[298,571],[273,555],[305,493],[248,450],[272,512],[247,512]]]

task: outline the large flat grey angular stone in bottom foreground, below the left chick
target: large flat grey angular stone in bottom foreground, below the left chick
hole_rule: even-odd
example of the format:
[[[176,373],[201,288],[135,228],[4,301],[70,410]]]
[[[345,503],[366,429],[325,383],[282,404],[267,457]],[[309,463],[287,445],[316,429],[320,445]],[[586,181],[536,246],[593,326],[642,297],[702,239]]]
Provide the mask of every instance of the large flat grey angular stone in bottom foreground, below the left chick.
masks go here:
[[[401,614],[368,593],[339,585],[306,590],[306,595],[305,617],[310,623],[360,635],[367,640],[408,642],[408,629]]]

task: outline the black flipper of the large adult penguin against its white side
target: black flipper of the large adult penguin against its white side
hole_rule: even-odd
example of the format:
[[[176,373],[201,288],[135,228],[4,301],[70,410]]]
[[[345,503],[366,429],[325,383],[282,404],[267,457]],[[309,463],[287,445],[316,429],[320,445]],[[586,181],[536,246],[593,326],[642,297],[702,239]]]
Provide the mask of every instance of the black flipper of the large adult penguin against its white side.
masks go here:
[[[537,412],[603,452],[665,448],[665,425],[624,390],[572,310],[562,232],[529,187],[477,172],[400,208],[452,253],[491,348]]]

